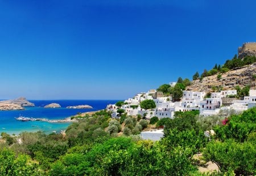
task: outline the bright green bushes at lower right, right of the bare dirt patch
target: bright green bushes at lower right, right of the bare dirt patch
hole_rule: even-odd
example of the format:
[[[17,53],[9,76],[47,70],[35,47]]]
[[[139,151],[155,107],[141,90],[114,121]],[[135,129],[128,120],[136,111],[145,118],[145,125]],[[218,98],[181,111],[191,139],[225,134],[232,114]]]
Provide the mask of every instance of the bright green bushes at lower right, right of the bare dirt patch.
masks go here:
[[[221,171],[237,175],[256,174],[256,108],[232,115],[226,125],[216,126],[216,140],[207,144],[204,157],[216,162]]]

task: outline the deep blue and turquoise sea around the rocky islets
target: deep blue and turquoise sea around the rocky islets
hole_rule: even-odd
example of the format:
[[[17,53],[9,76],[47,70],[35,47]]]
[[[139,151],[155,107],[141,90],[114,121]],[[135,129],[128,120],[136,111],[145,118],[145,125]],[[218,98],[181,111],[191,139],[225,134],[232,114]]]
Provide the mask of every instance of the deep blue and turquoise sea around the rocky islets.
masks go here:
[[[10,135],[19,135],[23,131],[42,131],[46,134],[59,133],[65,130],[72,122],[43,122],[43,121],[18,121],[19,116],[32,118],[64,119],[89,111],[105,109],[109,104],[115,104],[119,100],[28,100],[35,106],[26,106],[24,110],[0,111],[0,134],[6,132]],[[60,104],[61,108],[44,108],[51,103]],[[93,109],[67,109],[67,106],[90,105]]]

